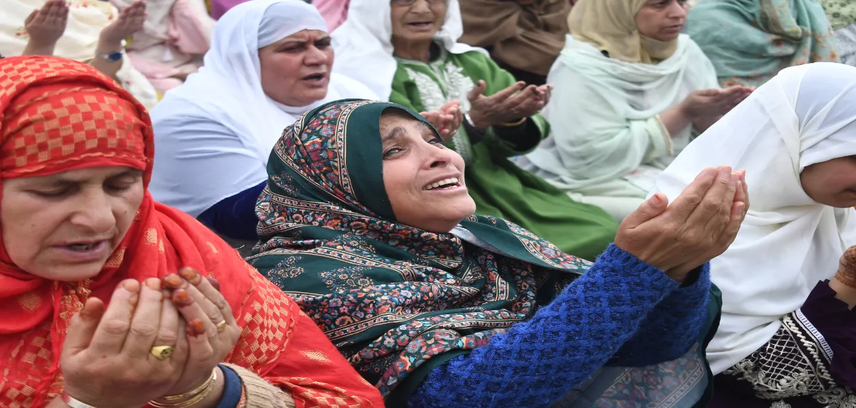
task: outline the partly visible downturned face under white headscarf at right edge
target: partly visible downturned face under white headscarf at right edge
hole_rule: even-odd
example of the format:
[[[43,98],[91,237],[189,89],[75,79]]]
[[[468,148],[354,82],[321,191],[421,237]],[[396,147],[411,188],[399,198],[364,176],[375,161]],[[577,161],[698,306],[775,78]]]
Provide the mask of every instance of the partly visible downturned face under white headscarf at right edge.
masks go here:
[[[836,208],[856,206],[856,156],[812,164],[803,169],[800,183],[817,203]]]

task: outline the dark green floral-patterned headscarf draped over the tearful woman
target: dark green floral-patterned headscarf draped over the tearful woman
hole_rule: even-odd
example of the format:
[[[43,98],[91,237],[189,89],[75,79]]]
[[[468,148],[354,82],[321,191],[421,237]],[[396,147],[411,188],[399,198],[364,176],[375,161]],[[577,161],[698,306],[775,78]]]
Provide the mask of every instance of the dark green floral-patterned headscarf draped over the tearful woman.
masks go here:
[[[379,129],[390,108],[425,121],[394,103],[350,100],[285,130],[268,161],[262,242],[249,259],[388,405],[406,400],[431,368],[532,316],[589,265],[494,217],[470,216],[454,234],[396,222]]]

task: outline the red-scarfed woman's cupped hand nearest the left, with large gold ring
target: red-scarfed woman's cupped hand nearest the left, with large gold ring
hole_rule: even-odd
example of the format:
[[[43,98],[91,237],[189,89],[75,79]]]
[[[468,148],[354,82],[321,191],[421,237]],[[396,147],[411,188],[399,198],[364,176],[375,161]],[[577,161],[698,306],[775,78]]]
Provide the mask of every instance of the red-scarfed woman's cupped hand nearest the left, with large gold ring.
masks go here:
[[[158,359],[152,347],[172,346]],[[62,345],[64,389],[93,406],[143,406],[167,393],[184,374],[190,352],[178,310],[152,278],[122,281],[105,309],[86,300]]]

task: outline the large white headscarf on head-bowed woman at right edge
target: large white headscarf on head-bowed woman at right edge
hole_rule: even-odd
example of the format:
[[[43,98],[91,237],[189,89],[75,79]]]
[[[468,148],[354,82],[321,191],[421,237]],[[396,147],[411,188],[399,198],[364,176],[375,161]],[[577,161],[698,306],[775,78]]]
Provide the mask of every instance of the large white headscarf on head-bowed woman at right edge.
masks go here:
[[[779,319],[831,279],[853,245],[853,208],[808,197],[805,167],[856,155],[856,68],[817,62],[782,70],[694,140],[657,180],[675,199],[705,167],[746,169],[751,210],[711,261],[722,322],[707,349],[714,373],[770,340]]]

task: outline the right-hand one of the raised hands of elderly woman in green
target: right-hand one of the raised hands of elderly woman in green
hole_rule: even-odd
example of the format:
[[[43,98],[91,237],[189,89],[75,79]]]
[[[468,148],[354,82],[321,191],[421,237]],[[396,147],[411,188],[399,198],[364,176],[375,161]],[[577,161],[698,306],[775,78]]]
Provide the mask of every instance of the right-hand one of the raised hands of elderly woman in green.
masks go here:
[[[484,80],[479,80],[467,95],[470,101],[470,119],[475,127],[483,130],[499,123],[510,123],[535,115],[550,102],[550,92],[553,89],[550,85],[526,86],[525,82],[520,81],[485,97],[486,88]]]

